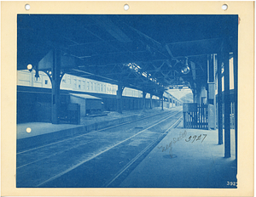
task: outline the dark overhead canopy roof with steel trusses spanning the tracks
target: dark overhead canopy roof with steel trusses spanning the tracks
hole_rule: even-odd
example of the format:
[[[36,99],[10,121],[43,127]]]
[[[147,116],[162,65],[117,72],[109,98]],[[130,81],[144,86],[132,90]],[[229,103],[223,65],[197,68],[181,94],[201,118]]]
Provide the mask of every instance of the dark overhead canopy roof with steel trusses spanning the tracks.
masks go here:
[[[207,55],[236,37],[238,16],[19,14],[17,21],[18,70],[50,70],[58,49],[64,73],[159,95],[207,81]]]

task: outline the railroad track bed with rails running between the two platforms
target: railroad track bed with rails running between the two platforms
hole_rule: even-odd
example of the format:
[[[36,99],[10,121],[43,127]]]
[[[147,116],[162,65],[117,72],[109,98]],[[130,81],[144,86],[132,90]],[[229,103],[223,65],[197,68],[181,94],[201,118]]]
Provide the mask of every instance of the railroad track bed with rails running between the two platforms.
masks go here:
[[[17,153],[17,187],[114,187],[127,169],[177,125],[181,115],[181,110],[151,115]],[[143,141],[143,145],[131,146],[136,140]],[[126,151],[126,155],[123,156],[122,151]],[[118,159],[119,155],[122,156]],[[125,159],[119,161],[122,158]],[[112,171],[111,166],[120,162],[121,165]],[[110,167],[109,173],[104,172],[105,163]],[[91,179],[97,179],[94,177],[96,169],[102,178],[91,182]],[[78,174],[84,174],[84,177]]]

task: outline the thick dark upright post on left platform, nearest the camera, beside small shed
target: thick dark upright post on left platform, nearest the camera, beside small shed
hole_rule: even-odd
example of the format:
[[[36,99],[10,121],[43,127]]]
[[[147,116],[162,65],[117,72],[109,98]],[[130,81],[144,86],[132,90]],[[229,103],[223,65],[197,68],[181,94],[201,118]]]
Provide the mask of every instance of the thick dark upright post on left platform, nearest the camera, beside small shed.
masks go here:
[[[58,49],[53,50],[52,89],[51,89],[51,121],[53,124],[59,124],[60,114],[60,84],[61,84],[61,52]]]

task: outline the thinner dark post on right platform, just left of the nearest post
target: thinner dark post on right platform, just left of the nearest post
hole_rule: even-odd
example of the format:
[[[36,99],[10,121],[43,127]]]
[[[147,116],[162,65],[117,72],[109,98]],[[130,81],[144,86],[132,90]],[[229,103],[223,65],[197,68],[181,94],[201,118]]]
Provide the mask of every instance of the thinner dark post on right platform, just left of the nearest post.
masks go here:
[[[222,59],[221,54],[217,56],[218,61],[218,144],[223,144],[223,111],[222,111]]]

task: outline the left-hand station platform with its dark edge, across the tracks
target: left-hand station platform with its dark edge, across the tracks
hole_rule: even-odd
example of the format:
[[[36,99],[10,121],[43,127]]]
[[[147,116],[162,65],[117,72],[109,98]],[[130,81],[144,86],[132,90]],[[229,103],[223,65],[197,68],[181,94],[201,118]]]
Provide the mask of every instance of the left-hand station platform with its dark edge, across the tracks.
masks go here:
[[[48,122],[20,123],[17,124],[17,150],[53,143],[56,140],[70,138],[105,127],[112,127],[127,121],[135,121],[138,118],[164,113],[175,108],[161,110],[160,107],[156,107],[152,110],[124,110],[122,114],[111,111],[108,112],[108,115],[81,117],[80,125],[52,124]],[[177,108],[181,108],[181,106]],[[31,132],[26,132],[27,128],[30,128]]]

